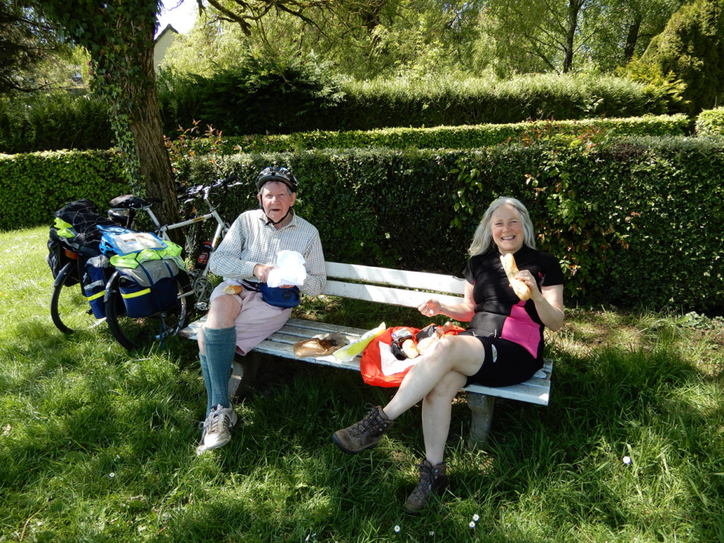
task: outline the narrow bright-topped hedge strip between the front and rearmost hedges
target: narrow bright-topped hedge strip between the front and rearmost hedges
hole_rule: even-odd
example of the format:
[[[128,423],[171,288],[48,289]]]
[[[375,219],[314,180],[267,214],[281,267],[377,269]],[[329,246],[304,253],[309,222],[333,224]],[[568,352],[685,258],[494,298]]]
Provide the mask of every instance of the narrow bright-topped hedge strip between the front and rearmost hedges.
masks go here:
[[[628,117],[625,119],[581,119],[568,121],[532,121],[506,125],[468,125],[434,128],[383,128],[380,130],[350,130],[348,132],[295,132],[267,134],[244,138],[224,137],[222,143],[206,138],[190,141],[195,153],[235,151],[299,151],[301,149],[388,147],[394,149],[476,148],[506,143],[508,140],[545,139],[555,135],[574,135],[586,130],[601,130],[607,136],[628,135],[685,135],[691,132],[691,120],[683,114]]]

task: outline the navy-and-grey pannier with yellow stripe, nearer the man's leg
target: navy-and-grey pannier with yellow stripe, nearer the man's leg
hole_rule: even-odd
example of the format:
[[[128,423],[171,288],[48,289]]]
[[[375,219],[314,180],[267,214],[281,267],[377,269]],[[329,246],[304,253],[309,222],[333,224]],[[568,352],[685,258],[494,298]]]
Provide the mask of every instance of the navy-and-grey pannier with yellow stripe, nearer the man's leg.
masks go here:
[[[117,266],[118,290],[130,317],[145,317],[168,311],[178,305],[176,276],[179,267],[173,258],[139,262],[135,268]]]

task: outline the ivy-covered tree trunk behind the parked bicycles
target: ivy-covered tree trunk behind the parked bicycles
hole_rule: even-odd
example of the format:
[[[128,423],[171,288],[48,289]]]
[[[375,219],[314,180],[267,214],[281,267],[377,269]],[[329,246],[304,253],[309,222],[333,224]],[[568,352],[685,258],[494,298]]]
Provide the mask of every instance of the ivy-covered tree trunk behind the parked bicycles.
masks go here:
[[[130,177],[159,196],[162,220],[178,217],[153,70],[159,0],[44,0],[66,37],[90,51],[93,88],[109,98]]]

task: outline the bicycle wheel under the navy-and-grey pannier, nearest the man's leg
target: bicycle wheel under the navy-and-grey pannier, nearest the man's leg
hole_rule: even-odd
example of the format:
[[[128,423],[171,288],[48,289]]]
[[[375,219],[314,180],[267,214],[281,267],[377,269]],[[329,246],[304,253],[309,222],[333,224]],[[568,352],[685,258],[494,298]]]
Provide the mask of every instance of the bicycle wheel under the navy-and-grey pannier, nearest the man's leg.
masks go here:
[[[193,296],[189,295],[190,285],[185,271],[180,271],[176,278],[176,306],[150,316],[127,316],[118,285],[119,274],[116,271],[106,285],[106,322],[113,337],[127,350],[147,348],[154,341],[162,342],[186,326],[190,308],[193,307]]]

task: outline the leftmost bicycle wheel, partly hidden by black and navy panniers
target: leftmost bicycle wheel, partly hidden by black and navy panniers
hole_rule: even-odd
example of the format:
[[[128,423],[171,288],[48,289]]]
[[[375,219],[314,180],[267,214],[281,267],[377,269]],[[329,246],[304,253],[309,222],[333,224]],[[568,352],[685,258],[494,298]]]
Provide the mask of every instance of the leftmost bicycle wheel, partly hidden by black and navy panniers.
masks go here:
[[[71,279],[71,272],[75,266],[77,266],[75,262],[69,262],[60,270],[53,284],[53,295],[50,300],[50,316],[53,324],[64,334],[87,330],[104,321],[93,316],[80,283],[77,279],[75,281]],[[67,285],[70,282],[72,285]]]

